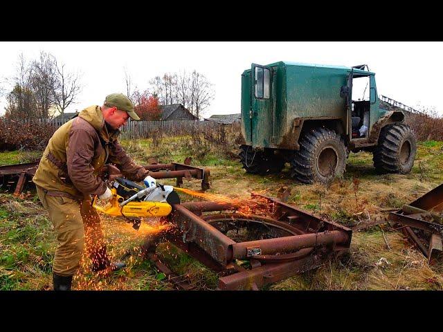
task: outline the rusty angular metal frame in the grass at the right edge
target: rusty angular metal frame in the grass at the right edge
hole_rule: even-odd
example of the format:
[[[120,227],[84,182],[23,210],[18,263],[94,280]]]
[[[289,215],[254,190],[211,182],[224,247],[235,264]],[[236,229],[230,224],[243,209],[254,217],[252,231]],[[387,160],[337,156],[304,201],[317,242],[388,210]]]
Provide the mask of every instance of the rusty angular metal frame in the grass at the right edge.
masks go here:
[[[443,184],[427,192],[397,212],[390,219],[401,224],[401,231],[422,251],[432,263],[442,252]]]

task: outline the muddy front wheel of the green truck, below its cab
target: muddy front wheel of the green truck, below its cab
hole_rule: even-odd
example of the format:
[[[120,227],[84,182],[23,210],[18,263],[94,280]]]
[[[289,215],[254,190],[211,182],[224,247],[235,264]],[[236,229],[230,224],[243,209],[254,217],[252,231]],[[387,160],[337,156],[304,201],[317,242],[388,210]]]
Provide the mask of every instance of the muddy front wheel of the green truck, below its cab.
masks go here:
[[[406,124],[395,123],[383,127],[379,144],[372,160],[379,172],[406,174],[413,168],[417,152],[417,139]]]

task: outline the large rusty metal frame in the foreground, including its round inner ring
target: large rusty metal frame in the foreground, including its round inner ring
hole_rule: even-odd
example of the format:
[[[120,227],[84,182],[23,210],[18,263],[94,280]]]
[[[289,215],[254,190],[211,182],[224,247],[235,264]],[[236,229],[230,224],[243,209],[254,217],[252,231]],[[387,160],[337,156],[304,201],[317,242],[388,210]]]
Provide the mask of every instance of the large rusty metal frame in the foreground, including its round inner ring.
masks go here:
[[[192,285],[161,263],[156,247],[163,241],[217,272],[218,290],[257,290],[341,255],[352,237],[349,228],[260,194],[233,203],[173,205],[167,218],[172,229],[148,236],[142,250],[181,289]]]

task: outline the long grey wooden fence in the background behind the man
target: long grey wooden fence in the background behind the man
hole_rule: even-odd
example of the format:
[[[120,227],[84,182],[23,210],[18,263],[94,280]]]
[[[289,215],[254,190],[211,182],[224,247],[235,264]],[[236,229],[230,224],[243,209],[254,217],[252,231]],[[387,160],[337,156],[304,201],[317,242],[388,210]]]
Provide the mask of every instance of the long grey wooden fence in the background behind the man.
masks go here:
[[[35,119],[24,120],[23,122],[46,124],[51,127],[58,128],[62,124],[68,122],[66,120],[48,120],[48,119]],[[172,121],[132,121],[128,120],[127,124],[120,128],[122,131],[121,138],[143,138],[149,137],[154,132],[163,133],[192,133],[195,131],[203,131],[204,129],[217,128],[224,124],[219,124],[213,121],[195,121],[195,120],[172,120]]]

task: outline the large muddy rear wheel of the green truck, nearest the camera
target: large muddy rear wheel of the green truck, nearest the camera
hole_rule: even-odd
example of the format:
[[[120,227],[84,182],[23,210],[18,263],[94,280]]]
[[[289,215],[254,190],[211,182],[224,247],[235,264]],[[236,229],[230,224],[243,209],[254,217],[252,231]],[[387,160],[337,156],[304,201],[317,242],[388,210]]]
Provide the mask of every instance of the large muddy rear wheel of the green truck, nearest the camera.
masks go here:
[[[291,165],[292,176],[302,183],[331,181],[342,176],[346,166],[346,148],[338,133],[316,128],[300,140]]]

